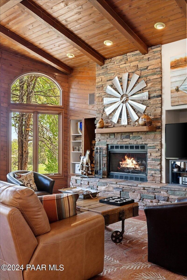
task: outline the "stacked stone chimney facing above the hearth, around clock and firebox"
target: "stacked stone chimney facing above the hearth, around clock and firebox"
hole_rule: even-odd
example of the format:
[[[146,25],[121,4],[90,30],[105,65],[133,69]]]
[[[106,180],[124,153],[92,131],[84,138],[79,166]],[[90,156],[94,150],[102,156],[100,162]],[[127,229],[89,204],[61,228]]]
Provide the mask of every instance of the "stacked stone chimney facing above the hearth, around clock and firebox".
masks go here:
[[[105,127],[113,127],[112,114],[106,115],[103,105],[103,97],[108,97],[105,92],[107,85],[113,86],[112,79],[119,79],[123,73],[129,72],[129,78],[133,73],[146,82],[143,92],[149,92],[149,99],[143,100],[146,105],[145,113],[154,117],[152,125],[156,126],[156,132],[130,132],[130,133],[104,133],[96,134],[96,146],[103,147],[103,177],[108,176],[107,144],[147,144],[148,145],[148,181],[161,182],[161,112],[162,112],[162,74],[161,74],[161,46],[149,48],[148,54],[142,55],[139,51],[127,53],[118,57],[105,60],[103,66],[96,67],[96,122],[102,117]],[[141,101],[138,101],[141,102]],[[136,110],[135,110],[136,111]],[[128,112],[127,112],[128,114]],[[142,114],[137,113],[138,117]],[[128,115],[127,115],[128,117]],[[115,127],[121,126],[120,122]],[[128,126],[135,126],[128,118]]]

